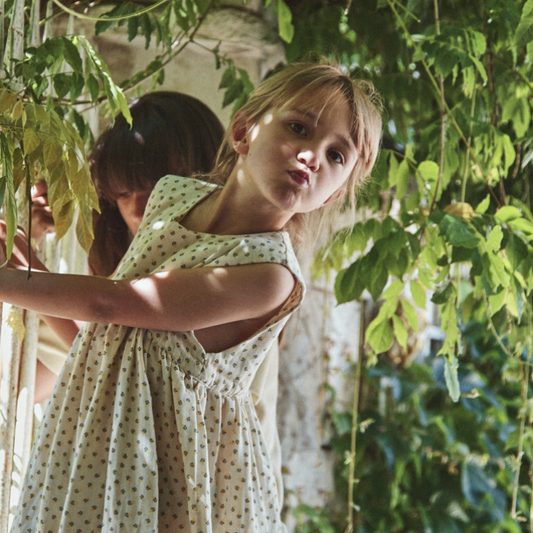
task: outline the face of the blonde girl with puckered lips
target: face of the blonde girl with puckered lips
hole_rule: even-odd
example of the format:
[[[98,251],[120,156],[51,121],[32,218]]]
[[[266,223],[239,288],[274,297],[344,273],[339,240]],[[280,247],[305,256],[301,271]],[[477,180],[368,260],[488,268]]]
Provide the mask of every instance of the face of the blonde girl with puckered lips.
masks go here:
[[[278,209],[305,213],[341,197],[357,161],[346,102],[274,108],[248,125],[235,149],[244,175]]]

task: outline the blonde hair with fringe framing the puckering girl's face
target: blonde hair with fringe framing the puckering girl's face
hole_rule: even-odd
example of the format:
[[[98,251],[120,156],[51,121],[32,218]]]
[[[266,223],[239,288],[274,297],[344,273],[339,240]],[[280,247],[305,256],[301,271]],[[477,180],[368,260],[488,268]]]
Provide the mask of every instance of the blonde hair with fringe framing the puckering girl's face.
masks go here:
[[[286,108],[294,104],[299,108],[324,112],[333,106],[347,103],[351,112],[351,128],[357,162],[346,183],[344,201],[331,202],[313,213],[293,216],[287,229],[296,241],[302,240],[308,230],[320,233],[326,222],[332,224],[341,213],[348,213],[348,223],[355,220],[356,189],[370,175],[381,142],[381,100],[371,83],[354,80],[330,63],[292,63],[262,81],[250,95],[246,104],[233,118],[239,117],[254,124],[272,108]],[[232,123],[233,126],[233,123]],[[218,152],[210,179],[223,184],[229,177],[238,154],[232,144],[232,127],[228,128]]]

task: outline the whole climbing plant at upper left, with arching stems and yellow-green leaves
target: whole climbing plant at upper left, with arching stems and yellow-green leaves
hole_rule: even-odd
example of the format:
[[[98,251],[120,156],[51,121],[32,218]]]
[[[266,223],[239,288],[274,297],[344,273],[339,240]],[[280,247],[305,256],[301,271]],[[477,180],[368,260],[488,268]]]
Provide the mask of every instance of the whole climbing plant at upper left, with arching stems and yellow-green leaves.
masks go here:
[[[18,207],[30,201],[36,179],[45,179],[53,209],[57,238],[77,218],[77,235],[85,250],[92,242],[92,209],[96,196],[89,178],[85,150],[92,144],[84,111],[105,105],[111,115],[129,118],[125,93],[151,78],[163,83],[165,66],[194,41],[219,0],[60,1],[0,0],[0,17],[8,28],[0,31],[0,206],[7,221],[11,252]],[[265,5],[271,0],[265,0]],[[271,6],[282,39],[292,38],[291,12],[283,0]],[[70,17],[66,35],[51,37],[57,17]],[[95,25],[96,35],[116,27],[127,28],[128,40],[143,38],[146,48],[155,42],[157,55],[130,79],[115,84],[90,42],[73,28],[79,20]],[[252,89],[248,74],[231,59],[212,53],[217,67],[225,68],[222,89],[225,105],[236,110]],[[22,187],[22,189],[21,189]],[[17,195],[23,190],[24,194]],[[18,198],[18,199],[17,199]],[[30,211],[31,212],[31,211]],[[31,215],[30,215],[31,221]],[[30,222],[31,223],[31,222]]]

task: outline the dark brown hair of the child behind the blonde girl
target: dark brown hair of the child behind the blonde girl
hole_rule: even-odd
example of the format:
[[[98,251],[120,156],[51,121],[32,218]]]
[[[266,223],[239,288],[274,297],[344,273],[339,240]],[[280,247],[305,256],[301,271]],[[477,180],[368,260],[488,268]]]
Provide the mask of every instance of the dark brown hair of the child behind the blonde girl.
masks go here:
[[[117,207],[126,191],[151,190],[166,174],[207,174],[224,128],[200,100],[173,91],[146,94],[130,104],[133,126],[123,115],[97,139],[89,166],[100,202],[89,253],[93,274],[111,275],[131,235]]]

